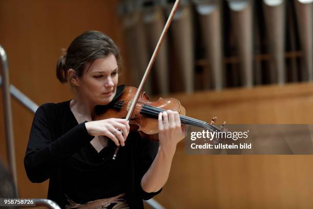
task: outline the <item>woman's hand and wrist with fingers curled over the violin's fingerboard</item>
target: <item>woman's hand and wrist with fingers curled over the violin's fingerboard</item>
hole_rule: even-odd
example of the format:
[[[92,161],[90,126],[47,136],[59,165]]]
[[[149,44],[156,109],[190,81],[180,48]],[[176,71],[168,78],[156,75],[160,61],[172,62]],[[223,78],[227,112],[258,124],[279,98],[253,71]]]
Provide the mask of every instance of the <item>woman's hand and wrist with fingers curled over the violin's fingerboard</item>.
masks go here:
[[[161,112],[159,114],[159,149],[165,153],[174,154],[177,143],[184,137],[180,115],[171,110]]]

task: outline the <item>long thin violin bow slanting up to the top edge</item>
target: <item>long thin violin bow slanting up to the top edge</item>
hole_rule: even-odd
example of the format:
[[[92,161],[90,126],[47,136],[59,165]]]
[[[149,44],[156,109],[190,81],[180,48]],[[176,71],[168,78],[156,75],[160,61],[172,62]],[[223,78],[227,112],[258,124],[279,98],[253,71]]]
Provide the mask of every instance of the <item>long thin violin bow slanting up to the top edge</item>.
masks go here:
[[[167,18],[166,24],[165,24],[165,26],[163,28],[163,31],[162,31],[161,36],[159,38],[158,44],[155,47],[154,52],[153,52],[153,54],[152,54],[152,56],[150,58],[148,67],[147,67],[146,72],[145,72],[145,74],[144,74],[144,76],[143,76],[143,78],[142,78],[142,80],[140,82],[140,85],[138,87],[137,93],[136,93],[135,97],[132,99],[131,106],[130,106],[130,108],[128,110],[128,113],[126,115],[127,122],[129,122],[129,119],[130,119],[130,117],[131,117],[131,115],[133,113],[133,110],[135,110],[135,107],[136,107],[139,95],[140,95],[140,93],[141,93],[141,91],[143,89],[143,86],[145,85],[145,82],[147,80],[148,75],[150,74],[150,71],[152,69],[152,65],[154,64],[154,61],[155,61],[155,57],[157,57],[157,55],[159,53],[159,50],[160,50],[161,45],[162,45],[163,40],[164,40],[164,36],[167,33],[167,31],[168,31],[168,28],[169,28],[169,26],[170,26],[170,24],[172,22],[172,19],[173,19],[175,13],[176,13],[176,10],[178,9],[178,6],[180,5],[180,2],[181,2],[181,0],[176,0],[175,1],[174,6],[173,6],[173,8],[171,10],[171,13],[170,13],[169,17]],[[120,146],[118,146],[116,148],[116,150],[114,152],[114,156],[113,156],[112,159],[114,159],[114,160],[116,159],[116,156],[117,156],[117,154],[119,152],[119,149],[120,149]]]

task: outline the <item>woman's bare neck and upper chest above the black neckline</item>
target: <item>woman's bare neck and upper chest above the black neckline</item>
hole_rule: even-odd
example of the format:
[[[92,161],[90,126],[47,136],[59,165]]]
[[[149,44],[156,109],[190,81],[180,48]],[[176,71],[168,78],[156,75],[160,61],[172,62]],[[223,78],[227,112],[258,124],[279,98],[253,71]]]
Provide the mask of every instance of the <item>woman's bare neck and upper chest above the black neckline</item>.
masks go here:
[[[91,102],[89,99],[84,98],[80,94],[76,94],[75,97],[70,102],[70,107],[74,113],[78,123],[87,121],[92,121],[95,118],[95,103]]]

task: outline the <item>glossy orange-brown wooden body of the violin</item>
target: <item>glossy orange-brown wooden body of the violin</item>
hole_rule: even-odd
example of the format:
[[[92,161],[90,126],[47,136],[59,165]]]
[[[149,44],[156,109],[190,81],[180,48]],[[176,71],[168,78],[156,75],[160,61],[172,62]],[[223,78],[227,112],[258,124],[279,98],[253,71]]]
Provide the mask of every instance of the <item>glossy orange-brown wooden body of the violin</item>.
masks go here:
[[[126,87],[123,94],[114,101],[113,106],[97,115],[96,120],[125,118],[137,91],[135,87]],[[180,115],[186,114],[185,108],[177,99],[159,98],[157,101],[150,101],[147,93],[141,92],[129,119],[130,131],[138,131],[142,137],[148,137],[150,140],[159,140],[158,115],[165,110],[177,111]]]

